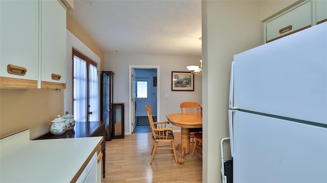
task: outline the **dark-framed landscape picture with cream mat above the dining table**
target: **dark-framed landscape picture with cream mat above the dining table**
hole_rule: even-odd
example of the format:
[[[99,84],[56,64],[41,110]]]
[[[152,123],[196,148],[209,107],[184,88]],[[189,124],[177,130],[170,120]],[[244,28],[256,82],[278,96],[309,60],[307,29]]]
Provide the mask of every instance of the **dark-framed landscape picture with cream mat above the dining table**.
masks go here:
[[[194,74],[172,71],[172,91],[194,91]]]

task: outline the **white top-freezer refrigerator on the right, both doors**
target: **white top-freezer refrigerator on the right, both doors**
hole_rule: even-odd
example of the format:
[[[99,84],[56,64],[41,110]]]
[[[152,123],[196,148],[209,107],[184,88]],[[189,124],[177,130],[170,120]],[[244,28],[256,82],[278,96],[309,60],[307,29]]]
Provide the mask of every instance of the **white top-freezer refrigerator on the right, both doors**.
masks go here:
[[[327,182],[327,22],[234,56],[234,183]]]

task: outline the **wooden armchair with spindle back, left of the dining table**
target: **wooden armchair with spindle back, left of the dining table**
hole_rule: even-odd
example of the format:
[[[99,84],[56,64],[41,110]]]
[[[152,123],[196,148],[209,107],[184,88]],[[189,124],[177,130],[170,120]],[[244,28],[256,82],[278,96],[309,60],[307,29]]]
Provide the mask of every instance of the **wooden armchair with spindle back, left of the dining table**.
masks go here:
[[[163,122],[154,122],[152,118],[152,109],[151,106],[146,105],[145,109],[148,113],[148,118],[150,122],[151,132],[152,132],[152,139],[153,139],[153,146],[151,150],[151,160],[150,164],[152,164],[154,156],[155,155],[173,155],[175,158],[176,164],[178,164],[177,161],[177,155],[176,155],[176,149],[174,144],[174,134],[173,134],[173,128],[172,127],[166,127],[166,124],[169,124],[168,121]],[[171,145],[160,145],[158,146],[159,142],[170,142]],[[161,143],[161,144],[162,144]],[[170,154],[156,154],[157,149],[172,149],[173,153]]]

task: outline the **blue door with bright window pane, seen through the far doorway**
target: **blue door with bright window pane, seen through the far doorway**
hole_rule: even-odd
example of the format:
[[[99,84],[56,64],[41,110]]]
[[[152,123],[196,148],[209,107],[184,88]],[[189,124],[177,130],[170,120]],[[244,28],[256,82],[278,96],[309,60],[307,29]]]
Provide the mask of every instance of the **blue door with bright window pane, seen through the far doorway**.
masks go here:
[[[146,105],[150,105],[151,87],[150,78],[136,78],[136,116],[147,116]]]

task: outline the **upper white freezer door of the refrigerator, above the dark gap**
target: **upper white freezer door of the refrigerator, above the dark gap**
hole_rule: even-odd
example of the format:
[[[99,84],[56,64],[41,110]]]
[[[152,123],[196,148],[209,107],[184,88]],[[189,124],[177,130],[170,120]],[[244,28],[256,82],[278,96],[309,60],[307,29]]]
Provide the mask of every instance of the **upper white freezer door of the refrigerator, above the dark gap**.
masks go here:
[[[327,124],[327,22],[234,56],[233,107]]]

